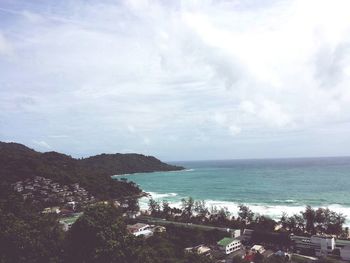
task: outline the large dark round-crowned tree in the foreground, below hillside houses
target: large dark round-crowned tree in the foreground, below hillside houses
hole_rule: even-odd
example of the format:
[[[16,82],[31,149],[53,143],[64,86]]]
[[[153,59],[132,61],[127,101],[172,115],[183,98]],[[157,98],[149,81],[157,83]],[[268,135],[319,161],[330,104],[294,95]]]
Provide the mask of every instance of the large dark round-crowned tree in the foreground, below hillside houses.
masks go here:
[[[130,262],[135,240],[127,234],[122,212],[113,205],[89,207],[68,232],[67,262]]]

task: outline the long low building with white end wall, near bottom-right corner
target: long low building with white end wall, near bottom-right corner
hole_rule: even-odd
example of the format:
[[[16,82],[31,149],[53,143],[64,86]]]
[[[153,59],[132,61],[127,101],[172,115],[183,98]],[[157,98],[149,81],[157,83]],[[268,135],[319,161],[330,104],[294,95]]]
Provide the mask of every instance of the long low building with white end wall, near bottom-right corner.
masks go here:
[[[327,256],[335,249],[334,237],[329,236],[290,236],[297,251],[313,252],[316,256]]]

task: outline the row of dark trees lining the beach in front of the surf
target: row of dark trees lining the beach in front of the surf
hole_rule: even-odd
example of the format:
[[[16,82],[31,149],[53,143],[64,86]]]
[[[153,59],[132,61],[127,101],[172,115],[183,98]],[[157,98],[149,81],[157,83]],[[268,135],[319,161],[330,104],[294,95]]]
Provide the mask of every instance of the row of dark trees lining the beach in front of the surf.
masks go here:
[[[179,222],[213,225],[244,229],[250,228],[260,232],[272,232],[280,225],[280,232],[294,233],[296,235],[330,234],[347,238],[348,228],[343,228],[346,217],[328,208],[313,209],[307,206],[300,214],[287,216],[283,214],[280,220],[254,214],[248,206],[239,205],[238,216],[231,216],[227,208],[208,208],[204,201],[195,201],[193,198],[182,199],[181,208],[173,208],[169,203],[159,203],[149,200],[149,211],[154,217],[161,217]],[[267,234],[263,234],[267,236]],[[259,238],[259,237],[257,237]],[[282,237],[283,238],[283,237]]]

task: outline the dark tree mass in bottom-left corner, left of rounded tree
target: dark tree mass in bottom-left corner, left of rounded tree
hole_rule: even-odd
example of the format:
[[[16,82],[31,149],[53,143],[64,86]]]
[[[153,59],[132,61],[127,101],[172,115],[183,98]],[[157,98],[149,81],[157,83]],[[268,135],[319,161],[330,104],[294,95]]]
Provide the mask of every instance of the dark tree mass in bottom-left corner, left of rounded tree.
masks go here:
[[[60,262],[63,231],[9,186],[0,185],[0,262]]]

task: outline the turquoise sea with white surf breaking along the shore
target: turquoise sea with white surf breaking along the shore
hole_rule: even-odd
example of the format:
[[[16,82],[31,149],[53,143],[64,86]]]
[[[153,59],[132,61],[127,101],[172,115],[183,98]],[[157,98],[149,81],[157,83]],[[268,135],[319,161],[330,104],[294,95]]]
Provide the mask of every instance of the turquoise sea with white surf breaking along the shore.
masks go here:
[[[245,204],[260,215],[279,219],[310,205],[347,216],[350,226],[350,157],[174,162],[183,171],[114,176],[134,181],[157,201],[180,207],[181,199],[226,207],[233,216]],[[139,200],[147,209],[149,199]]]

